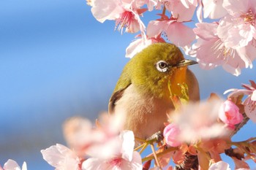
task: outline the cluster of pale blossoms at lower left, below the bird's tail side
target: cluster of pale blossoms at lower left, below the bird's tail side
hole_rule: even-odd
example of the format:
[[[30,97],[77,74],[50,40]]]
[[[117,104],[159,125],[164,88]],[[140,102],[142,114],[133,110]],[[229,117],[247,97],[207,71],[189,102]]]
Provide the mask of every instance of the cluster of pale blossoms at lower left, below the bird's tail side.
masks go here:
[[[56,144],[41,150],[45,161],[63,170],[142,169],[133,132],[121,131],[123,118],[105,114],[101,120],[97,127],[82,117],[67,120],[64,135],[72,149]]]

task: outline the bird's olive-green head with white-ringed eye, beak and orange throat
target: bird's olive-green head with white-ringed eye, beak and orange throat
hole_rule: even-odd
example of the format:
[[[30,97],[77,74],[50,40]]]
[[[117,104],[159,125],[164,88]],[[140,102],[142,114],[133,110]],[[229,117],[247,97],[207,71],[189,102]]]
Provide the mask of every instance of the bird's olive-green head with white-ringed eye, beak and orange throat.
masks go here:
[[[186,60],[181,50],[169,43],[149,45],[127,64],[132,84],[141,93],[162,98],[170,96],[168,82],[182,83],[186,79],[187,66],[197,63]]]

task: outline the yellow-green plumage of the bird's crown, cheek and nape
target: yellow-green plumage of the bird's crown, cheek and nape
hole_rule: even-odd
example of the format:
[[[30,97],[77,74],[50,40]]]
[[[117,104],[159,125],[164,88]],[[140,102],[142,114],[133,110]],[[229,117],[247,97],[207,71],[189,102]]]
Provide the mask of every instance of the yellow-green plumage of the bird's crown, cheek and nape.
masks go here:
[[[127,88],[132,83],[140,89],[140,93],[161,98],[165,95],[167,88],[164,88],[163,85],[166,85],[165,82],[167,77],[170,77],[171,71],[159,72],[154,64],[162,60],[174,65],[183,59],[181,50],[175,45],[168,43],[150,45],[127,63],[116,84],[114,93]]]

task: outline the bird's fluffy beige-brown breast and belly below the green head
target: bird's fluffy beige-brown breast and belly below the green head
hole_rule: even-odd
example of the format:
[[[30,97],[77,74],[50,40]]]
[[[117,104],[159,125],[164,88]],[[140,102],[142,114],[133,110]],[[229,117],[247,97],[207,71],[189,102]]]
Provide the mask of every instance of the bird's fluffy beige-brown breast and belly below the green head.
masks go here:
[[[172,109],[170,101],[140,93],[135,85],[129,85],[116,101],[114,112],[126,115],[124,129],[132,130],[135,136],[146,139],[165,127],[167,113]]]

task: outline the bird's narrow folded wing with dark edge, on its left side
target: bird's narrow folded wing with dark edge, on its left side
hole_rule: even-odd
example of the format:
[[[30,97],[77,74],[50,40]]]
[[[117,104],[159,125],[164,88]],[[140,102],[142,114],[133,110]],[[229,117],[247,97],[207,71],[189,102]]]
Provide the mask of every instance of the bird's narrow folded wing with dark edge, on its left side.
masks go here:
[[[129,76],[121,74],[120,79],[118,80],[116,84],[116,88],[110,97],[109,103],[108,103],[108,112],[112,114],[116,107],[116,101],[118,101],[124,94],[124,90],[129,87],[129,85],[132,84],[132,81],[129,79]]]

